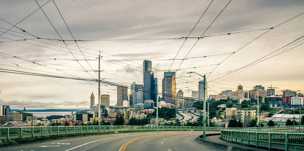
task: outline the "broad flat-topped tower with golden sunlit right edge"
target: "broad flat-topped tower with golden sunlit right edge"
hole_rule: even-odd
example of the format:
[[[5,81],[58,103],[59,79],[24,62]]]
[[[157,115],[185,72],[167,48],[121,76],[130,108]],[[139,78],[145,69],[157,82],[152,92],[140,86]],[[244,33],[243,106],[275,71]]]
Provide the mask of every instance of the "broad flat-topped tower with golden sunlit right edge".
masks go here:
[[[166,103],[176,105],[176,83],[175,83],[175,72],[165,72],[163,79],[163,100]]]

